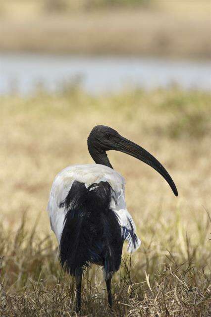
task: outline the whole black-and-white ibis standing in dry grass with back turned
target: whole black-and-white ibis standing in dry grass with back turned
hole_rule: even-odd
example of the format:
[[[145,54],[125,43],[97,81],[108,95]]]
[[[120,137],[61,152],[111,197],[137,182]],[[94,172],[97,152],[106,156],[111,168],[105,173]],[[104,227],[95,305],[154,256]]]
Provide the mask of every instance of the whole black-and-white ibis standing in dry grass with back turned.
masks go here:
[[[125,203],[125,180],[107,157],[123,152],[153,167],[164,177],[175,196],[177,188],[161,163],[116,130],[97,125],[87,139],[94,164],[70,165],[53,180],[48,202],[51,229],[59,245],[61,266],[76,280],[76,312],[81,310],[81,283],[91,264],[102,266],[108,306],[112,308],[111,279],[121,263],[123,242],[127,252],[141,245]]]

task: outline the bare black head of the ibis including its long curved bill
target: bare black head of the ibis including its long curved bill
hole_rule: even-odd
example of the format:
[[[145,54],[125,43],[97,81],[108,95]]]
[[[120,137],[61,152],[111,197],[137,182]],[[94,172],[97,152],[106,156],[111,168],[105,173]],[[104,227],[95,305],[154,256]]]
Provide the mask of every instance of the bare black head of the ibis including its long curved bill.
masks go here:
[[[164,177],[171,187],[175,196],[178,196],[176,186],[162,164],[154,158],[149,152],[137,145],[136,143],[122,137],[114,129],[105,125],[95,126],[88,137],[88,149],[92,158],[104,155],[106,151],[115,150],[126,153],[136,159],[139,159],[153,167],[160,175]],[[111,165],[110,165],[111,166]]]

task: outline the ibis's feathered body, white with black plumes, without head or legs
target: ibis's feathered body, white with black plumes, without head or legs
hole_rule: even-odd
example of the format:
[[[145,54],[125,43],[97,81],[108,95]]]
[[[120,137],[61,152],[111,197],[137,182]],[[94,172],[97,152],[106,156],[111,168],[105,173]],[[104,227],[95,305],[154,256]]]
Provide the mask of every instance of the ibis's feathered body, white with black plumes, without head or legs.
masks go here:
[[[125,206],[124,184],[119,173],[101,164],[68,166],[55,177],[48,211],[61,263],[69,261],[70,273],[89,263],[103,263],[106,273],[113,272],[123,240],[129,252],[140,246]]]

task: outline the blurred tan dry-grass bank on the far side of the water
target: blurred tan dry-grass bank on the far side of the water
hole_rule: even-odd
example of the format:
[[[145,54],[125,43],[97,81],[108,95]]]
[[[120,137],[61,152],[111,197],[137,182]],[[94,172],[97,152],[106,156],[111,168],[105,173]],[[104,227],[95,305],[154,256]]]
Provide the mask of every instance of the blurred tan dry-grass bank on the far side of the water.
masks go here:
[[[209,0],[57,2],[3,0],[0,50],[211,57]]]

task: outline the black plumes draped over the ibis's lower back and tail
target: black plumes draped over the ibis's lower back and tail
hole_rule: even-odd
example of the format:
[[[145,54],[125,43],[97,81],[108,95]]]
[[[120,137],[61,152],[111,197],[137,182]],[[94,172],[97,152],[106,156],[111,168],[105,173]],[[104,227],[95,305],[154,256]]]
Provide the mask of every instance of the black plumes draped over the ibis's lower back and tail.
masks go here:
[[[59,207],[66,216],[60,240],[60,263],[80,275],[91,263],[104,265],[106,276],[119,269],[123,238],[116,214],[110,209],[113,190],[108,182],[74,181]]]

